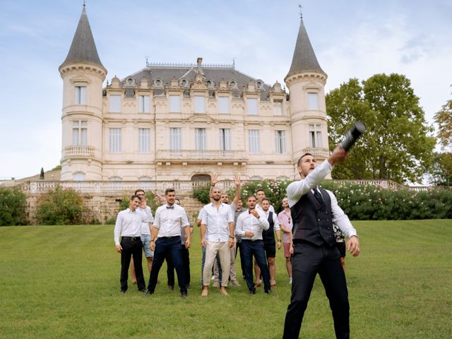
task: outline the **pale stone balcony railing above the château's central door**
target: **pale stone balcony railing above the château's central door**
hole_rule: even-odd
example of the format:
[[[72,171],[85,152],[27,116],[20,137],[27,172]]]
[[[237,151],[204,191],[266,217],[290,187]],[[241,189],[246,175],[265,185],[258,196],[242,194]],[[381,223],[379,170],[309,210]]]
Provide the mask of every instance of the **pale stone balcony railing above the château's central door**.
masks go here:
[[[180,160],[184,162],[203,161],[243,161],[243,150],[157,150],[156,161]]]

